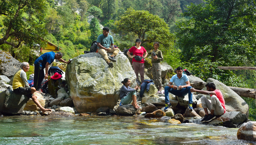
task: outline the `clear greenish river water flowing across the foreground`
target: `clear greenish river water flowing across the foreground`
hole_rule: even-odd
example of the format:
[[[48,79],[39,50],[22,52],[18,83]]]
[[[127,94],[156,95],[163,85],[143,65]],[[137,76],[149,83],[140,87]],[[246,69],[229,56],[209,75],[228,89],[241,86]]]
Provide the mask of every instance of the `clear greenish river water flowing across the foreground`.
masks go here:
[[[234,145],[237,130],[194,123],[170,124],[141,116],[4,116],[1,145]]]

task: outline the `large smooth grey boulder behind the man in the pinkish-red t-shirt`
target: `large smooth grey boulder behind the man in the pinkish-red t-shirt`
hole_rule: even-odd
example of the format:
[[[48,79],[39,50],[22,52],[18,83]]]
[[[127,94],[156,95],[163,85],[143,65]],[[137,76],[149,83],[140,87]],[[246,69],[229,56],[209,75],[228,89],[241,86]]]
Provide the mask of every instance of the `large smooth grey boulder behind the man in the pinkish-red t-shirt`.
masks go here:
[[[248,117],[249,114],[249,106],[248,104],[233,90],[231,90],[228,86],[223,84],[222,82],[219,82],[215,79],[209,78],[207,79],[207,82],[214,82],[216,89],[220,90],[222,92],[223,98],[225,100],[225,108],[226,111],[239,111],[243,114],[246,114]],[[203,90],[206,90],[206,87],[204,87]]]

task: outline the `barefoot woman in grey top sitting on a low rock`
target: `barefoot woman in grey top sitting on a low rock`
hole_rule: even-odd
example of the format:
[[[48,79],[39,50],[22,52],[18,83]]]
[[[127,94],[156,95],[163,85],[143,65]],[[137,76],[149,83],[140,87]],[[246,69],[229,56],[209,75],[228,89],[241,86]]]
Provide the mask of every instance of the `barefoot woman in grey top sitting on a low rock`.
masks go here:
[[[139,89],[138,86],[135,86],[134,89],[130,87],[131,80],[128,78],[125,78],[122,81],[123,86],[120,89],[120,100],[122,104],[132,104],[136,109],[140,108],[137,104],[137,96],[136,91]]]

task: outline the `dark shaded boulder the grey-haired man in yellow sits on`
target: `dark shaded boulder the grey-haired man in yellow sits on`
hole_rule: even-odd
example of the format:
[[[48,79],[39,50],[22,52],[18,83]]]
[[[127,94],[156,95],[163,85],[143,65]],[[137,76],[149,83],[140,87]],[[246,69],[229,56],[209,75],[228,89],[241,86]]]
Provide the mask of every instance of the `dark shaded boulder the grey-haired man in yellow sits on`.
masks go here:
[[[7,89],[0,93],[0,112],[6,115],[22,114],[29,97],[17,95],[13,91]]]

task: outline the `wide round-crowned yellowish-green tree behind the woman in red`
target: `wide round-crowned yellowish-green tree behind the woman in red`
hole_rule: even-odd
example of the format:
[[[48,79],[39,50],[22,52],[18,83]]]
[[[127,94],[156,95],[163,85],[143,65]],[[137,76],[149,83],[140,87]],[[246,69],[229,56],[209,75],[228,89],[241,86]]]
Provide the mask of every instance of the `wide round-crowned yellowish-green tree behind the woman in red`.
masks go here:
[[[135,11],[129,8],[115,24],[116,33],[119,31],[123,34],[133,33],[141,39],[142,44],[154,41],[166,47],[173,44],[173,36],[169,33],[168,25],[159,16],[149,14],[148,11]]]

